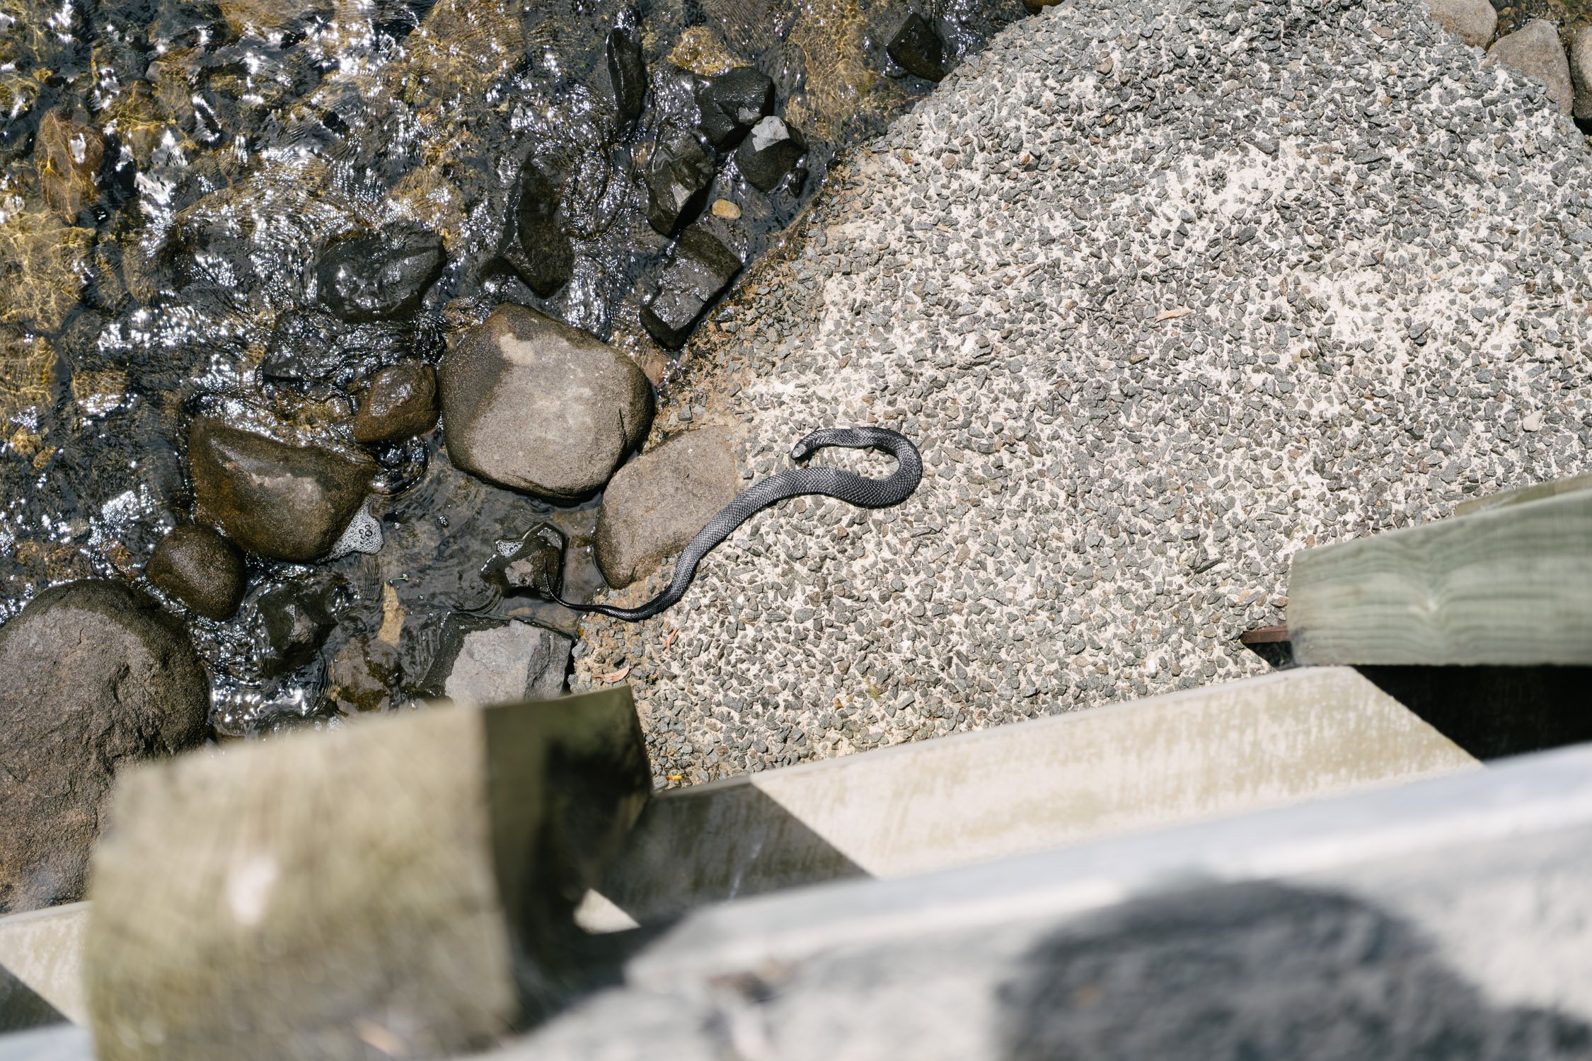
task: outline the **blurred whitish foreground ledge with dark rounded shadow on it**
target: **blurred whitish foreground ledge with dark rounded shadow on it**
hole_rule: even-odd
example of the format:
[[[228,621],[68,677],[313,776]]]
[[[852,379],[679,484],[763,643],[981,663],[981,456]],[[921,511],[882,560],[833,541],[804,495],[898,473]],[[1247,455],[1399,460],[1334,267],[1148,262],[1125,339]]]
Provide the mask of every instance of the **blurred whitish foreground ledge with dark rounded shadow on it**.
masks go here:
[[[686,916],[498,1061],[1582,1058],[1592,749]]]

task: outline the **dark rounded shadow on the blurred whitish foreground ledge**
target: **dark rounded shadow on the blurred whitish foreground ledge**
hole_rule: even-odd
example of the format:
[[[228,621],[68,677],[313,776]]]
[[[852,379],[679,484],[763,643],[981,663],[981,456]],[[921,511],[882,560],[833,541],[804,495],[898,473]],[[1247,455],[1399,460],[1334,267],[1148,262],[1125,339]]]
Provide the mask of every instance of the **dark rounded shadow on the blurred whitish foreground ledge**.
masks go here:
[[[1592,1058],[1592,1028],[1490,1002],[1399,918],[1278,884],[1086,918],[1035,946],[1001,1002],[1009,1061]]]

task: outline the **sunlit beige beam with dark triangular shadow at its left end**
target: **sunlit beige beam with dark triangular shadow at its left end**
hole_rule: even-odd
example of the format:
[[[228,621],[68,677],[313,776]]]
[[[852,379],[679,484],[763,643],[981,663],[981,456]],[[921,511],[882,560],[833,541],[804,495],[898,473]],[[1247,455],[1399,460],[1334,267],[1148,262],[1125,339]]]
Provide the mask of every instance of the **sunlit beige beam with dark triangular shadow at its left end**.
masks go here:
[[[1291,670],[665,792],[600,892],[627,927],[1474,765],[1353,670]]]

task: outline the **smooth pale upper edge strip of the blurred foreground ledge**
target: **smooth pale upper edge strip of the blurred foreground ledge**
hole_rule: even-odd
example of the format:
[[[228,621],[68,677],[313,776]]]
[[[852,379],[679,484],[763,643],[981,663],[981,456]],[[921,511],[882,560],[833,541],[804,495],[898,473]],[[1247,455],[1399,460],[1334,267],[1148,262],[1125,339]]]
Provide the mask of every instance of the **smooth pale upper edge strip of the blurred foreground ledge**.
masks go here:
[[[1592,746],[1489,770],[893,880],[839,881],[686,915],[627,980],[669,989],[834,946],[1063,918],[1200,881],[1294,876],[1592,824]]]

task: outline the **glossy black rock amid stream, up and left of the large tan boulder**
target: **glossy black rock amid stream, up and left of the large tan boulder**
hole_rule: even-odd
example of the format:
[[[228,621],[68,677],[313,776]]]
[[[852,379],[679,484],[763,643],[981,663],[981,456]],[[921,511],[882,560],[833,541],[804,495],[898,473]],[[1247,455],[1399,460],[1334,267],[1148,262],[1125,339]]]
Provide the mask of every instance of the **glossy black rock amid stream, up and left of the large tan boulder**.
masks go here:
[[[350,323],[406,317],[443,272],[443,240],[428,229],[392,229],[339,240],[315,262],[320,304]]]

